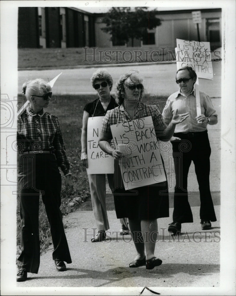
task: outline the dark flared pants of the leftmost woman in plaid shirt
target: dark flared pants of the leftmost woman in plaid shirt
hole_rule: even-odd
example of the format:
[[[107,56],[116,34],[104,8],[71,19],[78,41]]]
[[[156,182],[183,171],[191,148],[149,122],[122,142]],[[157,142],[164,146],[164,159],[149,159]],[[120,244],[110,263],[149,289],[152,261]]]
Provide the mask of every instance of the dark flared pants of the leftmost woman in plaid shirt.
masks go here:
[[[18,170],[20,196],[21,254],[18,268],[38,273],[40,242],[38,229],[39,195],[45,205],[54,251],[53,260],[71,263],[70,251],[62,222],[61,175],[51,153],[21,155]]]

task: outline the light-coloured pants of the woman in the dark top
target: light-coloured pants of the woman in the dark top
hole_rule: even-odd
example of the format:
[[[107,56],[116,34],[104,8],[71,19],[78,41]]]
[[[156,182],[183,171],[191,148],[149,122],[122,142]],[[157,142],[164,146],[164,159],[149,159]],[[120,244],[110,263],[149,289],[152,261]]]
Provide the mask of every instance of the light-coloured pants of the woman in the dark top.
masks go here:
[[[108,230],[110,228],[106,209],[106,175],[88,174],[91,193],[91,202],[97,230]],[[114,175],[107,174],[110,189],[114,186]],[[127,227],[127,218],[120,219],[121,225]]]

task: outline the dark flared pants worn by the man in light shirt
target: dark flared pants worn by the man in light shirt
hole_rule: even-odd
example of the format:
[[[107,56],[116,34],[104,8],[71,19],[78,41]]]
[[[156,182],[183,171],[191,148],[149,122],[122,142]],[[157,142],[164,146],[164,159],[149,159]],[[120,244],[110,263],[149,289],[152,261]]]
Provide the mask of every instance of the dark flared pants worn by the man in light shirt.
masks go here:
[[[187,192],[187,178],[192,161],[200,192],[200,219],[216,221],[209,182],[211,147],[208,133],[175,133],[174,136],[181,140],[171,141],[176,176],[173,221],[193,222]]]

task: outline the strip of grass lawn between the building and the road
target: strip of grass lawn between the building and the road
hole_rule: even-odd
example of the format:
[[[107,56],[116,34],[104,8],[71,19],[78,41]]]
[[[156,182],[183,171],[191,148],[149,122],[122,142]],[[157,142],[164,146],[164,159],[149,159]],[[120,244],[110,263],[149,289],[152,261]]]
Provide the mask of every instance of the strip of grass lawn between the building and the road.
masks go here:
[[[120,50],[121,53],[111,52]],[[101,51],[99,53],[98,51]],[[137,52],[139,51],[139,52]],[[25,48],[18,49],[18,68],[75,67],[80,65],[119,64],[126,62],[168,61],[174,48],[156,46],[114,48]],[[86,54],[87,53],[87,54]],[[90,53],[90,54],[89,54]],[[96,53],[96,55],[91,55]],[[138,57],[140,56],[140,57]]]

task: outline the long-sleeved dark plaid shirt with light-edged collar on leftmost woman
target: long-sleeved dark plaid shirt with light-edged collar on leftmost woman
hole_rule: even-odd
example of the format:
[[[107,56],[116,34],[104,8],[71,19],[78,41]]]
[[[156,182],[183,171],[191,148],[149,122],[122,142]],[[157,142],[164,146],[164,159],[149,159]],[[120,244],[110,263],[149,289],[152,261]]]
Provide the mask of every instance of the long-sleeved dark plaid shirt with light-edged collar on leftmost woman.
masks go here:
[[[44,109],[35,113],[27,107],[18,118],[17,145],[19,152],[53,151],[63,174],[71,174],[58,119]]]

